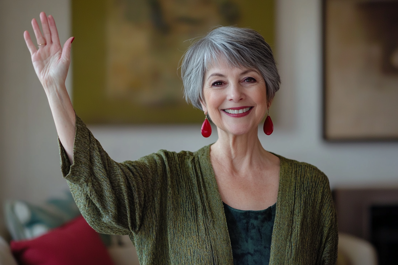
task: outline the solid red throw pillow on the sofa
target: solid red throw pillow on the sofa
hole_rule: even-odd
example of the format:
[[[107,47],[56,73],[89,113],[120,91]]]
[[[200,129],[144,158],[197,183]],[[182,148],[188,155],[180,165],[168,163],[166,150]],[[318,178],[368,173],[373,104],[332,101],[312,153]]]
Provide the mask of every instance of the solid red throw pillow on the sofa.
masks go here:
[[[12,241],[20,265],[113,265],[100,236],[82,216],[32,240]]]

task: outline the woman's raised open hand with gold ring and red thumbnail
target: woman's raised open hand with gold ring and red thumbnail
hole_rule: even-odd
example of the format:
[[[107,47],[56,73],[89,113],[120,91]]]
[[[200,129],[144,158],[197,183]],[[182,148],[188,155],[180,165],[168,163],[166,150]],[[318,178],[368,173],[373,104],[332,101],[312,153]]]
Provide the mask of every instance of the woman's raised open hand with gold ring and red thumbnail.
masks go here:
[[[31,54],[37,77],[39,77],[46,93],[48,93],[51,92],[48,91],[51,87],[65,83],[70,65],[70,47],[74,37],[70,37],[62,49],[53,16],[49,15],[47,17],[44,12],[41,12],[40,21],[43,34],[36,19],[32,19],[36,41],[37,44],[40,44],[38,49],[32,42],[28,31],[23,33],[23,37]]]

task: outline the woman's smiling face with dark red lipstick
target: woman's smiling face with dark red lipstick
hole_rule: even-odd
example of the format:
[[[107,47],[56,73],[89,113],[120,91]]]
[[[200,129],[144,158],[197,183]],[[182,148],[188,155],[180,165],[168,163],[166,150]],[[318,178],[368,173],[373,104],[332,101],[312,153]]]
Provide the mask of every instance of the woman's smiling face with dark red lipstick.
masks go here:
[[[203,98],[202,108],[214,124],[234,135],[257,130],[267,112],[267,88],[260,72],[224,60],[205,74]]]

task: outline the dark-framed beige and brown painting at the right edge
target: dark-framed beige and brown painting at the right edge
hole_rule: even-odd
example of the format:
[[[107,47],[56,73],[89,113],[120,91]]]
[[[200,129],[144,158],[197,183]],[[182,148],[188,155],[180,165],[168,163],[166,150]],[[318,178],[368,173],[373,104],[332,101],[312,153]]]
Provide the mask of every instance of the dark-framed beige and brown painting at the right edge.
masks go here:
[[[398,140],[398,1],[323,4],[324,138]]]

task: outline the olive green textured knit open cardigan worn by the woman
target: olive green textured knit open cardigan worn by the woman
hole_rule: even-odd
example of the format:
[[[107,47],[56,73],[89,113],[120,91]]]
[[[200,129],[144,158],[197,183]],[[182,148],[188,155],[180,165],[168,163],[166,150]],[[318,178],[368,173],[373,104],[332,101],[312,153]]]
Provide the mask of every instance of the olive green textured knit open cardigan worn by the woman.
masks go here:
[[[87,222],[128,234],[141,265],[232,265],[210,146],[160,150],[138,161],[109,158],[76,116],[73,164],[60,145],[61,170]],[[335,264],[337,222],[327,177],[278,156],[279,192],[269,264]]]

